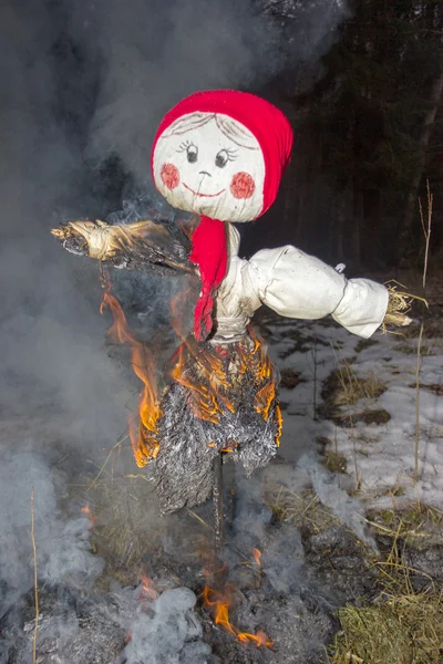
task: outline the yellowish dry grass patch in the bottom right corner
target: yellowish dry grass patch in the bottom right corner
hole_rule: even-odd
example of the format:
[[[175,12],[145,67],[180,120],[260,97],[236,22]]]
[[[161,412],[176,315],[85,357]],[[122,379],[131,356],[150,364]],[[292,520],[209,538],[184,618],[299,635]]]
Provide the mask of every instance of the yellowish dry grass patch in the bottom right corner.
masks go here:
[[[370,605],[347,605],[338,611],[341,630],[331,647],[331,664],[443,661],[443,593],[430,577],[408,567],[403,556],[405,539],[427,537],[424,527],[430,522],[441,527],[443,515],[420,505],[402,513],[387,512],[370,521],[379,532],[392,538],[391,550],[375,563],[383,592]],[[423,581],[421,590],[413,583],[418,575]]]

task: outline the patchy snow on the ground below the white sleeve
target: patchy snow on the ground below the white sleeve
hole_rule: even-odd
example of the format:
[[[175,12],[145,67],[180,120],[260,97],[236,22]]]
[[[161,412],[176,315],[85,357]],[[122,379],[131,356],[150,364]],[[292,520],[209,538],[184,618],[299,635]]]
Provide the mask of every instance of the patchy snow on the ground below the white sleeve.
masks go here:
[[[422,343],[420,481],[414,483],[418,338],[377,332],[372,343],[362,342],[329,319],[312,322],[265,315],[262,324],[275,364],[284,376],[285,370],[292,370],[302,381],[290,388],[284,380],[279,391],[284,406],[281,456],[297,461],[327,438],[327,448],[347,460],[343,488],[356,488],[359,481],[359,496],[368,507],[385,509],[420,500],[442,509],[443,341],[426,339],[425,332]],[[315,403],[317,412],[319,406],[321,411],[324,381],[336,370],[348,387],[357,385],[356,378],[367,377],[370,385],[385,386],[378,397],[363,396],[353,405],[341,406],[348,423],[353,415],[352,426],[320,415],[315,419]],[[381,424],[359,421],[358,415],[368,411],[382,411],[384,416],[385,411],[390,419]]]

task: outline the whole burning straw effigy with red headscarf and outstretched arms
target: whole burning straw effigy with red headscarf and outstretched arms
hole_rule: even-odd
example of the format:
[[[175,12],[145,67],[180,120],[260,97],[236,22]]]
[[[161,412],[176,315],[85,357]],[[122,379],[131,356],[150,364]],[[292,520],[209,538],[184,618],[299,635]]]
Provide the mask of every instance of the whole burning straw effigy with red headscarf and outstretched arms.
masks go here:
[[[195,228],[82,220],[52,231],[68,251],[95,258],[103,269],[185,273],[198,286],[194,331],[182,338],[161,391],[154,373],[141,371],[150,351],[131,332],[104,278],[103,305],[114,314],[120,341],[131,344],[144,383],[135,460],[147,467],[165,511],[217,497],[225,458],[250,476],[277,453],[278,372],[250,322],[262,304],[292,319],[332,315],[362,338],[387,322],[409,322],[401,311],[392,318],[384,286],[348,280],[292,246],[239,257],[234,224],[269,209],[291,148],[289,121],[269,102],[230,90],[198,92],[165,115],[152,151],[156,188],[173,208],[199,216]]]

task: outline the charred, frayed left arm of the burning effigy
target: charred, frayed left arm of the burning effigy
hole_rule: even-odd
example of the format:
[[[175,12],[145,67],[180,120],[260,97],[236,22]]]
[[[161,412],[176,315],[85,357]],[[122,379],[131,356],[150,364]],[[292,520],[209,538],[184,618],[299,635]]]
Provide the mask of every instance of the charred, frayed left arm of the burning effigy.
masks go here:
[[[189,261],[190,240],[173,224],[150,220],[125,225],[104,221],[69,221],[51,230],[62,247],[89,256],[106,267],[171,276],[197,273]]]

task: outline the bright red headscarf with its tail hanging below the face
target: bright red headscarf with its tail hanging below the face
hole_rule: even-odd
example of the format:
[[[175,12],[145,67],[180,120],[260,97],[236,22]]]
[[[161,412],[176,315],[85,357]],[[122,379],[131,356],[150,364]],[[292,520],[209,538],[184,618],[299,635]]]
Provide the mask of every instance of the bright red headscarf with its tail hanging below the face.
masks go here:
[[[258,141],[265,160],[264,205],[260,215],[272,205],[281,176],[289,164],[293,134],[289,121],[276,106],[248,92],[210,90],[196,92],[178,102],[164,116],[154,138],[151,167],[154,176],[154,151],[163,132],[189,113],[220,113],[243,124]],[[155,181],[155,180],[154,180]],[[220,286],[227,267],[225,225],[222,220],[202,217],[193,235],[190,260],[198,264],[202,293],[195,308],[194,332],[205,340],[213,326],[213,295]]]

